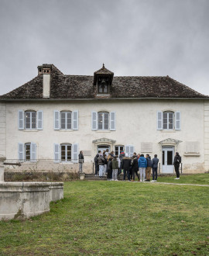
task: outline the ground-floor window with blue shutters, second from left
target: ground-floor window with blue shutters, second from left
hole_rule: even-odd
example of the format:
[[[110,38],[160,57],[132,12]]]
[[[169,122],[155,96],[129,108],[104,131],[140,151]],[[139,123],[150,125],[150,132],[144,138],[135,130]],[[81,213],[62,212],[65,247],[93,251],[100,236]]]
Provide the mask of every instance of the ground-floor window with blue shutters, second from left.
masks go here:
[[[78,163],[78,144],[54,144],[54,162],[59,163],[72,161]]]

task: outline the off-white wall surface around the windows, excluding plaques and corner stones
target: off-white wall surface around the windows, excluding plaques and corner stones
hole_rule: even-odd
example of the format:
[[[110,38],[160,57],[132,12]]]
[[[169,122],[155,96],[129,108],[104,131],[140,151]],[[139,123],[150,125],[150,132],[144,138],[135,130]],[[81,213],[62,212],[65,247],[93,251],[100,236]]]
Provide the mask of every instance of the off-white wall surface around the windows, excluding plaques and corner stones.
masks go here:
[[[43,110],[43,130],[18,130],[18,110]],[[53,130],[53,110],[79,110],[79,129]],[[115,131],[92,131],[91,111],[115,111]],[[181,130],[156,130],[156,112],[173,110],[181,112]],[[53,143],[79,143],[79,150],[91,150],[85,162],[91,162],[97,147],[92,140],[99,138],[116,140],[115,145],[132,144],[137,153],[141,142],[152,142],[152,153],[160,162],[162,147],[159,141],[167,138],[182,140],[176,148],[182,156],[183,170],[204,171],[204,101],[203,100],[117,100],[82,102],[12,102],[6,106],[6,157],[18,158],[18,143],[34,142],[36,157],[53,159]],[[199,141],[200,156],[185,157],[186,141]],[[114,148],[111,148],[114,150]],[[146,152],[145,152],[146,153]]]

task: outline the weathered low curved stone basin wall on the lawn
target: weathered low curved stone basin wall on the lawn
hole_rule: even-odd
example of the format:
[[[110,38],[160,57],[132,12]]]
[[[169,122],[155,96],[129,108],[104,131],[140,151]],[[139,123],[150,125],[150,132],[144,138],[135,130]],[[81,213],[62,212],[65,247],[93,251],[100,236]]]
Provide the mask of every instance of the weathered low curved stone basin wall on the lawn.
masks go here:
[[[50,211],[63,199],[62,182],[1,182],[0,220],[24,219]]]

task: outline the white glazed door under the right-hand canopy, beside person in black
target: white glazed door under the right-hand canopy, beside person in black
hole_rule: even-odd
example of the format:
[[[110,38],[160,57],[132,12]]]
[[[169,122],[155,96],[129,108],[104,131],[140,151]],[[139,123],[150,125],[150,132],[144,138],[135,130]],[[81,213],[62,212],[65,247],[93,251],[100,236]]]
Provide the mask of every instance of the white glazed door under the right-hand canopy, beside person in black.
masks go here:
[[[163,168],[162,172],[163,173],[173,173],[173,155],[174,155],[174,147],[163,147],[162,148],[162,163],[163,163]]]

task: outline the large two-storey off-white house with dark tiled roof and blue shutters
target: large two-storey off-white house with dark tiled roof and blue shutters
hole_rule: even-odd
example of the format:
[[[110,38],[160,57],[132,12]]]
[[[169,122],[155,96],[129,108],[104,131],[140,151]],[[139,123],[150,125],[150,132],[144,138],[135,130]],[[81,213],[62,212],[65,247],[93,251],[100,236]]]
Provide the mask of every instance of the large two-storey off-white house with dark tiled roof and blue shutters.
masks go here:
[[[173,173],[179,151],[183,172],[209,169],[209,98],[166,77],[66,75],[53,64],[0,97],[0,154],[22,168],[47,159],[57,167],[92,171],[98,150],[158,154],[160,172]]]

